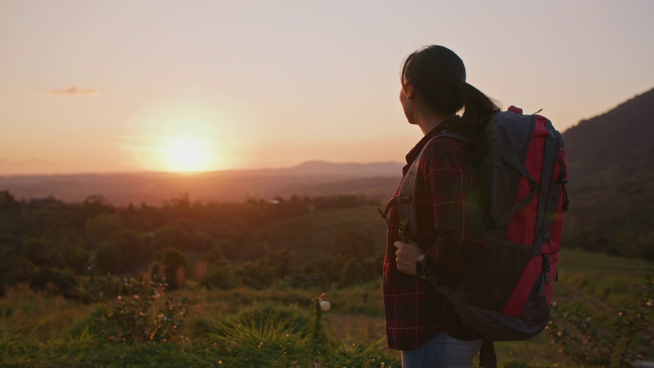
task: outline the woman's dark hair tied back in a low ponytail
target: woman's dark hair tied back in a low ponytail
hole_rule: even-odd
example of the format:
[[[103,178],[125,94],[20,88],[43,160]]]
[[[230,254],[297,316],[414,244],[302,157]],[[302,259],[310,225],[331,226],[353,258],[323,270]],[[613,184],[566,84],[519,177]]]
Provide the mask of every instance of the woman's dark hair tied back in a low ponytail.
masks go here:
[[[419,92],[422,100],[434,111],[455,115],[460,119],[449,128],[479,142],[479,125],[488,115],[500,111],[497,101],[466,83],[466,67],[455,52],[444,46],[426,46],[409,55],[402,65],[402,84]]]

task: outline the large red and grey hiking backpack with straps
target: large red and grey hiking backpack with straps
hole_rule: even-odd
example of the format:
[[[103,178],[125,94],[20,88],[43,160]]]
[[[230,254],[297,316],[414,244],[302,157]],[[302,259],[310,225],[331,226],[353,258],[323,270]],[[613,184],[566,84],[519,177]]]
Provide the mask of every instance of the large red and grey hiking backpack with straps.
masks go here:
[[[493,341],[526,340],[547,325],[563,212],[569,204],[561,134],[545,117],[522,112],[511,106],[483,122],[486,155],[475,171],[487,249],[471,260],[456,289],[438,277],[428,279],[451,301],[460,320],[483,336],[480,365],[485,367],[496,365]],[[466,140],[455,132],[432,140],[437,138]],[[396,208],[403,242],[417,234],[414,193],[421,156],[382,213],[387,217],[390,208]]]

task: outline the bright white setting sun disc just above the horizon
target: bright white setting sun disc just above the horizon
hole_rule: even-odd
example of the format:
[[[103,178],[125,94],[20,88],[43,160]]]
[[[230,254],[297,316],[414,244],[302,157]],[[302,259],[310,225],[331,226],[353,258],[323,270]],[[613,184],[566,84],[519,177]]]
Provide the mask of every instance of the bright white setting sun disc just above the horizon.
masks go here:
[[[167,171],[170,172],[208,171],[214,161],[211,145],[199,139],[167,139],[162,153]]]

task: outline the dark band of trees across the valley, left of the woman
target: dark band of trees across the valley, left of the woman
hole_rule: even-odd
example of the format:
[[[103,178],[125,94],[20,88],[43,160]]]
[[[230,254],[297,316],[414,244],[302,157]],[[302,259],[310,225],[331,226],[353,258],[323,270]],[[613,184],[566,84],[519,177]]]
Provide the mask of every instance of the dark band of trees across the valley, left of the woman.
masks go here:
[[[182,195],[160,207],[118,208],[100,195],[66,204],[52,197],[16,200],[4,191],[0,293],[29,284],[79,298],[88,275],[107,273],[160,274],[169,289],[186,278],[220,289],[354,285],[381,273],[379,234],[356,225],[314,234],[307,225],[288,221],[373,204],[377,202],[362,196],[203,204]]]

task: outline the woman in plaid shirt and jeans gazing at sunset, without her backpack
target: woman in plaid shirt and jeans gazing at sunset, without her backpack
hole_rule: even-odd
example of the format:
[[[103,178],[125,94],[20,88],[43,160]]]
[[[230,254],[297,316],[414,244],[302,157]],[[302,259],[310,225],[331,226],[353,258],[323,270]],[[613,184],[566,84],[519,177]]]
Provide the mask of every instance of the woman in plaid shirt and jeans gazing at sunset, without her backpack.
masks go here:
[[[479,183],[473,170],[483,156],[477,127],[499,108],[466,83],[462,60],[443,46],[428,46],[409,55],[401,82],[404,114],[424,134],[406,156],[404,174],[423,148],[424,152],[417,175],[417,237],[401,242],[396,211],[388,217],[387,343],[402,350],[404,368],[472,367],[481,337],[462,325],[443,295],[417,277],[416,261],[421,260],[425,274],[438,274],[455,285],[475,250],[485,247]],[[459,117],[456,113],[461,110]],[[445,130],[466,136],[466,143],[444,137],[432,140]]]

